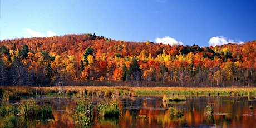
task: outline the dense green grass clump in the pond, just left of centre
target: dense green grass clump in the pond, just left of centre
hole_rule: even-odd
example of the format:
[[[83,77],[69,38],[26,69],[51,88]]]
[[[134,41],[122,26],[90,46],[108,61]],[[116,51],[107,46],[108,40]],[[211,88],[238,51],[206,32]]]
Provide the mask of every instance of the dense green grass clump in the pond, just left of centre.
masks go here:
[[[120,115],[120,109],[117,101],[100,102],[97,104],[97,112],[103,117],[118,118]]]

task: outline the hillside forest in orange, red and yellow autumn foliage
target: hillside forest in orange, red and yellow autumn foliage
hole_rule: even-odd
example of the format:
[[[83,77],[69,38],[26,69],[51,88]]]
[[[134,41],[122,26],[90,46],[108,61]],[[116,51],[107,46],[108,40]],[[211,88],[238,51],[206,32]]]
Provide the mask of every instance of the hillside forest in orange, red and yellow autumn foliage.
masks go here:
[[[0,42],[0,85],[255,87],[256,41],[199,47],[95,34]]]

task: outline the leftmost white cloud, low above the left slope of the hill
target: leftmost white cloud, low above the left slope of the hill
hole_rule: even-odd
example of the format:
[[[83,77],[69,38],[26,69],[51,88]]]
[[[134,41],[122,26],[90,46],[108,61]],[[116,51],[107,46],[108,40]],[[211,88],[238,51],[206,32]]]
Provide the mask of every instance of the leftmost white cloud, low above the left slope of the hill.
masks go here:
[[[39,31],[33,31],[30,28],[25,28],[24,32],[25,32],[25,36],[24,36],[25,38],[29,38],[29,37],[46,37],[46,36],[47,37],[52,37],[52,36],[56,35],[56,33],[53,33],[51,31],[47,31],[46,36],[45,36],[43,33],[39,32]]]

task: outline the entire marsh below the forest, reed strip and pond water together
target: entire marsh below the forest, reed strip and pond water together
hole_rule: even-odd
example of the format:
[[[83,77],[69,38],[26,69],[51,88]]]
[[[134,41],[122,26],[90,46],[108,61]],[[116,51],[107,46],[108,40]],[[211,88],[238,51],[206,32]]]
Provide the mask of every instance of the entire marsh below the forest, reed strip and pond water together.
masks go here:
[[[0,127],[248,127],[256,122],[255,88],[1,86],[0,96]]]

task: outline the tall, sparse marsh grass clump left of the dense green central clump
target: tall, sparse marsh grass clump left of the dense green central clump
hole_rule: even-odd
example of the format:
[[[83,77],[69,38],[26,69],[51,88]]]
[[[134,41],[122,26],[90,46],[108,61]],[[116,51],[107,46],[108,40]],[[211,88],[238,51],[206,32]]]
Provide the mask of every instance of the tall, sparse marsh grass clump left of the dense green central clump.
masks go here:
[[[92,102],[81,99],[77,102],[76,111],[74,114],[76,126],[89,126],[93,120],[93,105]]]

